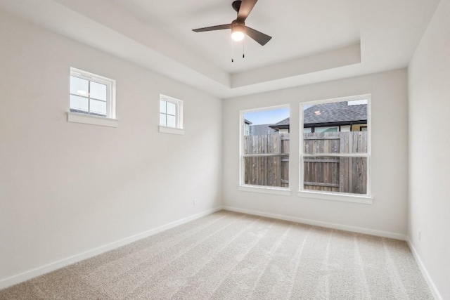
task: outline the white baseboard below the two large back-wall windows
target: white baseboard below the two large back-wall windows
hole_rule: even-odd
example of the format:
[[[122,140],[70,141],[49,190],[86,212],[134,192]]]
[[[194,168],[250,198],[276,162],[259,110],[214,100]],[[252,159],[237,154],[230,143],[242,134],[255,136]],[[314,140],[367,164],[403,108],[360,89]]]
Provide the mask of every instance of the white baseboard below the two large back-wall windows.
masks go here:
[[[353,233],[364,233],[366,235],[375,235],[378,237],[389,237],[389,238],[392,238],[395,240],[404,240],[404,241],[407,240],[406,235],[402,235],[401,233],[389,233],[387,231],[380,231],[380,230],[373,230],[373,229],[368,229],[368,228],[328,223],[328,222],[323,222],[323,221],[314,221],[314,220],[309,220],[309,219],[297,218],[295,216],[285,216],[282,214],[271,214],[266,211],[254,211],[254,210],[250,210],[250,209],[240,209],[238,207],[224,207],[224,209],[229,210],[229,211],[240,212],[243,214],[253,214],[255,216],[265,216],[267,218],[280,219],[280,220],[285,220],[285,221],[293,221],[293,222],[303,223],[303,224],[308,224],[308,225],[351,231]]]

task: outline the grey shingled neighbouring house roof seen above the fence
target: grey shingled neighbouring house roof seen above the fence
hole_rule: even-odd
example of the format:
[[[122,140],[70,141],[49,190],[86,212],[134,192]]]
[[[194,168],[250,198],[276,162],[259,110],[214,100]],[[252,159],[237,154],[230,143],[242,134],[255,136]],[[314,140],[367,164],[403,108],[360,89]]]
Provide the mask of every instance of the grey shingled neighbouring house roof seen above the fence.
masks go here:
[[[319,111],[320,115],[315,112]],[[330,126],[367,123],[367,104],[347,105],[347,101],[313,105],[303,111],[304,126]],[[269,125],[272,129],[289,128],[289,118]]]

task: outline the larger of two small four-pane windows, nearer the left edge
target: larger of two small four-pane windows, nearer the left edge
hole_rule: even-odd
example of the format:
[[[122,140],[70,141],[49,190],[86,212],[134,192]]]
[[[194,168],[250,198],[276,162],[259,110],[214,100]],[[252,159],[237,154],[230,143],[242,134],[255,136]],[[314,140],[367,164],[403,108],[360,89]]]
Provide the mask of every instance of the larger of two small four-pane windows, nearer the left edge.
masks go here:
[[[70,112],[115,118],[115,81],[96,74],[70,69]]]

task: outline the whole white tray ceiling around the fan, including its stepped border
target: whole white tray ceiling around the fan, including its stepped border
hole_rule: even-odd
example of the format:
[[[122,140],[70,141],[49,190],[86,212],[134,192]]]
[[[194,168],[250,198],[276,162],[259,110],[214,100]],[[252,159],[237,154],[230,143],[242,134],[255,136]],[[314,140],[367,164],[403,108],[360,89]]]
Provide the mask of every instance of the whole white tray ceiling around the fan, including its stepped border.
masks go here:
[[[0,10],[220,98],[406,67],[439,0],[261,0],[231,51],[232,0],[0,0]],[[231,63],[234,58],[234,63]]]

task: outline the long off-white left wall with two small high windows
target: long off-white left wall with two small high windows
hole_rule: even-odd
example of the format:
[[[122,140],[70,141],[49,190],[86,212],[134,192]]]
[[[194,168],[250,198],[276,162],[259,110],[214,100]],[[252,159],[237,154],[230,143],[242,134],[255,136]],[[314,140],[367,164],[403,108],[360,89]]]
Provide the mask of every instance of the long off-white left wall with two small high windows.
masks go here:
[[[118,128],[67,122],[70,67],[117,81]],[[4,13],[0,70],[0,283],[220,207],[220,99]]]

